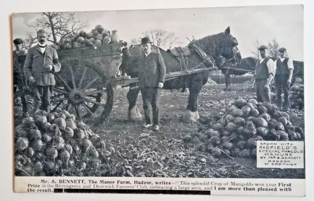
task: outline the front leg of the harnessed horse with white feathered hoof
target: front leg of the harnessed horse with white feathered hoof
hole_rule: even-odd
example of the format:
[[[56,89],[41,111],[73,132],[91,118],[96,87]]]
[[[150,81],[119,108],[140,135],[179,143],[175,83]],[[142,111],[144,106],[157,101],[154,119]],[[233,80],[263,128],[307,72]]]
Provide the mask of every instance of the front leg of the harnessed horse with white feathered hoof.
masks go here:
[[[197,99],[202,90],[202,81],[203,80],[197,80],[189,87],[189,99],[183,116],[183,121],[185,122],[198,122],[198,119],[200,118],[197,112]]]

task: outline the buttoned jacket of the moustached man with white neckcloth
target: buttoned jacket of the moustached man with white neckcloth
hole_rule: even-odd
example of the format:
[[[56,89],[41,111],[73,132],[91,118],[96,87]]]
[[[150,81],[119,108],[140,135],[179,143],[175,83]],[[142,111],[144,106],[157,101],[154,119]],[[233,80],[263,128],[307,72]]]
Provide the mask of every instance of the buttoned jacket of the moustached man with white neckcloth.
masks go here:
[[[44,67],[47,65],[53,66],[51,72],[44,70]],[[60,69],[61,64],[59,63],[57,51],[49,45],[46,46],[44,53],[41,52],[39,45],[28,50],[24,64],[26,80],[33,76],[36,80],[36,85],[53,86],[55,85],[54,73],[59,72]]]

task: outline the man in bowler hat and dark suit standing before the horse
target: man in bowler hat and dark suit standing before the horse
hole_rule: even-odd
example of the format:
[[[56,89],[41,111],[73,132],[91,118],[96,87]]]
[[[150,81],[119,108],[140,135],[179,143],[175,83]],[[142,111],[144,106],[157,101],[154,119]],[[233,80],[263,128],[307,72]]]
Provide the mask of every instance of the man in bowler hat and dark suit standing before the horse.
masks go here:
[[[144,53],[139,55],[137,60],[138,86],[143,99],[146,123],[144,127],[153,126],[154,131],[159,131],[159,97],[160,89],[165,81],[166,66],[161,54],[152,51],[152,43],[148,37],[141,40]],[[153,113],[153,119],[151,113]]]

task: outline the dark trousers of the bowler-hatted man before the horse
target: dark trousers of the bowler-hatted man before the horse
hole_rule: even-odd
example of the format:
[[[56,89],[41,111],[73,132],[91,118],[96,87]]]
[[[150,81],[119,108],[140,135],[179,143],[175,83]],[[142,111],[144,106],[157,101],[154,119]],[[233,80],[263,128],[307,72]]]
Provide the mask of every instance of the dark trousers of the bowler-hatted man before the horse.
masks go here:
[[[141,88],[145,123],[159,126],[159,98],[160,89],[152,87]],[[153,119],[152,119],[153,116]]]

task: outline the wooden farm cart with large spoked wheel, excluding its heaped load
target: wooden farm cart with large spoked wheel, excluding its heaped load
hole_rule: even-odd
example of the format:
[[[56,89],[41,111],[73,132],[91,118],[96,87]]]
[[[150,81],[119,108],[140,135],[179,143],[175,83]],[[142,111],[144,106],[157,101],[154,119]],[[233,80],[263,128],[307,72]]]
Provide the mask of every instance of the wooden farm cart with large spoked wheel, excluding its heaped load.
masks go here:
[[[130,78],[116,77],[122,61],[122,43],[58,51],[61,71],[55,74],[52,112],[67,110],[83,117],[103,120],[113,105],[115,81]]]

